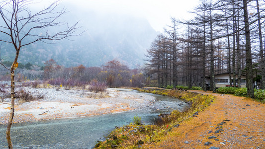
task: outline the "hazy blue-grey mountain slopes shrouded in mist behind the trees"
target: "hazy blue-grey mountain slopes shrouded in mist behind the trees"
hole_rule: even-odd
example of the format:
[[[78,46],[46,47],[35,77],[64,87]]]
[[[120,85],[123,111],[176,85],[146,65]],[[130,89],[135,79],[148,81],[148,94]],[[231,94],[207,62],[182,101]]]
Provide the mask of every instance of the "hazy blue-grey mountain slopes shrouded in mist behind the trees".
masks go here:
[[[64,39],[53,44],[37,42],[25,46],[21,49],[19,63],[30,62],[42,66],[54,59],[65,67],[81,64],[93,67],[115,59],[134,68],[137,64],[143,64],[146,49],[158,34],[147,19],[117,12],[100,13],[73,7],[61,19],[69,24],[80,20],[81,30],[86,32],[71,40]],[[3,43],[1,59],[13,61],[14,51],[11,44]]]

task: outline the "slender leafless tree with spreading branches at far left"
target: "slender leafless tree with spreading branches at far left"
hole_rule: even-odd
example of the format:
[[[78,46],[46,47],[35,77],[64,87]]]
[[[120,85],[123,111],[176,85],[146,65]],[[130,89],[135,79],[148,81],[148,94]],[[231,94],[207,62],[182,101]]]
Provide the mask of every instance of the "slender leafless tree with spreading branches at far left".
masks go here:
[[[9,149],[13,148],[10,129],[14,116],[14,72],[18,67],[17,60],[21,48],[38,41],[49,42],[81,35],[81,33],[76,33],[80,28],[77,26],[78,23],[69,26],[68,23],[58,21],[62,15],[67,13],[65,7],[57,9],[59,3],[60,0],[55,0],[47,8],[33,12],[31,6],[36,4],[36,0],[1,0],[0,2],[0,41],[12,44],[15,50],[13,64],[10,69],[6,68],[11,74],[11,109],[6,129]],[[53,33],[53,28],[58,30]],[[0,65],[3,64],[0,63]]]

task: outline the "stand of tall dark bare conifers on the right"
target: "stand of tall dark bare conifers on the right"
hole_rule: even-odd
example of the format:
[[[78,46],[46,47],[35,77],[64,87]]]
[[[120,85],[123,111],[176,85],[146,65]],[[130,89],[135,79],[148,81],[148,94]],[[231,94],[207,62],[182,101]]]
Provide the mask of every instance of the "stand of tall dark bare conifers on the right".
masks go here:
[[[149,74],[159,87],[194,85],[205,91],[209,76],[213,92],[215,74],[229,73],[230,86],[236,84],[233,76],[238,87],[246,75],[248,96],[254,97],[254,77],[261,77],[265,89],[264,6],[264,0],[200,0],[192,19],[172,18],[153,41],[146,55]]]

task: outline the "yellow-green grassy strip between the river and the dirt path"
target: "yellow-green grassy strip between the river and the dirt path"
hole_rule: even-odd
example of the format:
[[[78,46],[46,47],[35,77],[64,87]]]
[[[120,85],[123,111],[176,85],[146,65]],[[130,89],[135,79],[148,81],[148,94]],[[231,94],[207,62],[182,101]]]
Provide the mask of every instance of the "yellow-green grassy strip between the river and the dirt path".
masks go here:
[[[178,127],[181,121],[195,116],[197,112],[208,107],[214,100],[214,96],[212,95],[202,95],[188,91],[145,88],[138,90],[185,99],[190,103],[190,108],[184,109],[182,112],[175,110],[170,115],[161,115],[156,125],[142,125],[141,118],[134,117],[134,123],[116,128],[105,137],[106,141],[98,142],[95,148],[136,149],[143,144],[156,144],[164,140],[164,136],[168,134],[173,127]]]

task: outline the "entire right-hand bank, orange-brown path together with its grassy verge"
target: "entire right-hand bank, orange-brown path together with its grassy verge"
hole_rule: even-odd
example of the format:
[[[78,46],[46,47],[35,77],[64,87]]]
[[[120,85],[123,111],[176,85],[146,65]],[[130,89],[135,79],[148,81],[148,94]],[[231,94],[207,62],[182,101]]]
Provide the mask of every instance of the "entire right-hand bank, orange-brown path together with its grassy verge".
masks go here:
[[[118,128],[99,148],[111,143],[111,148],[120,149],[265,149],[265,104],[209,91],[189,92],[214,95],[216,98],[208,108],[178,124]],[[123,135],[120,136],[120,132]],[[129,139],[126,140],[126,137]],[[118,145],[113,145],[117,142]]]

